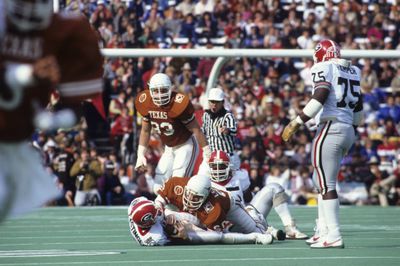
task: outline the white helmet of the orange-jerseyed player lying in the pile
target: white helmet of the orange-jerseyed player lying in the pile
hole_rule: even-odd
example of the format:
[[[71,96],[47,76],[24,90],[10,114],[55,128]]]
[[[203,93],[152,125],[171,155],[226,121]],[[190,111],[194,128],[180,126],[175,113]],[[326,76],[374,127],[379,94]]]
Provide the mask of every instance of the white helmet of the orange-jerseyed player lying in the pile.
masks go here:
[[[211,190],[208,176],[195,175],[183,189],[183,207],[186,211],[196,211],[205,202]]]

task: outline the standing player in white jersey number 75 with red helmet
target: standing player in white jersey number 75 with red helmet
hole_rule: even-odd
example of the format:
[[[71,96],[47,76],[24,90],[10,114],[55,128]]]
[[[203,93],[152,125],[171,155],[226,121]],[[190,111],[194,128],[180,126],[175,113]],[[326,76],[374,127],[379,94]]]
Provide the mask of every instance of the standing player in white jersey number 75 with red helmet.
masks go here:
[[[363,103],[361,71],[342,59],[340,47],[322,40],[315,47],[312,98],[287,125],[282,139],[288,141],[299,127],[314,118],[318,125],[311,161],[313,181],[319,190],[318,232],[306,242],[311,248],[344,248],[339,230],[339,200],[336,182],[340,162],[352,146],[361,124]]]

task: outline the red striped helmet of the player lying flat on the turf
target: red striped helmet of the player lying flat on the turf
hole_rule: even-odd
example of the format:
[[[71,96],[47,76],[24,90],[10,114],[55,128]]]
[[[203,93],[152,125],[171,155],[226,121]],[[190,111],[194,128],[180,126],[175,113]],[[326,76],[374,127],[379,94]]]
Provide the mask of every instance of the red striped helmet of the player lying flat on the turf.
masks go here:
[[[154,225],[160,215],[161,210],[153,201],[145,197],[132,200],[128,208],[129,218],[141,228],[149,228]]]

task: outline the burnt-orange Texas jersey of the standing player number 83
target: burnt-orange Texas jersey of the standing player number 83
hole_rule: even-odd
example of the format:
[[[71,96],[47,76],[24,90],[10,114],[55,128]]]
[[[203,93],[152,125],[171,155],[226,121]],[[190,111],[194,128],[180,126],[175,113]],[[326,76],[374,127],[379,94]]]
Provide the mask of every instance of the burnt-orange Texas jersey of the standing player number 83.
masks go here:
[[[187,95],[172,92],[167,105],[157,106],[149,90],[145,90],[136,97],[135,107],[169,147],[185,143],[192,135],[185,126],[195,119],[194,107]]]

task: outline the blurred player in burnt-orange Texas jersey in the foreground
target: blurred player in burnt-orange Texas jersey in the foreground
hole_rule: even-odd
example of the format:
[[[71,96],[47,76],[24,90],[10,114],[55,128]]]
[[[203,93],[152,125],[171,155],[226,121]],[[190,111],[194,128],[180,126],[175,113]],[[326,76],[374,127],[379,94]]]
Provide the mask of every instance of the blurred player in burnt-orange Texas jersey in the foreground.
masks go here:
[[[78,106],[101,93],[103,74],[97,37],[86,18],[53,14],[51,0],[2,3],[0,221],[58,194],[28,143],[37,126],[35,116],[52,91],[58,89],[65,106]]]

